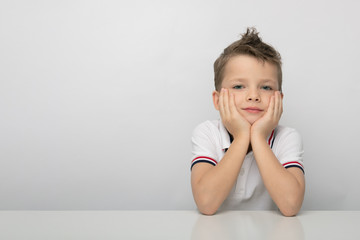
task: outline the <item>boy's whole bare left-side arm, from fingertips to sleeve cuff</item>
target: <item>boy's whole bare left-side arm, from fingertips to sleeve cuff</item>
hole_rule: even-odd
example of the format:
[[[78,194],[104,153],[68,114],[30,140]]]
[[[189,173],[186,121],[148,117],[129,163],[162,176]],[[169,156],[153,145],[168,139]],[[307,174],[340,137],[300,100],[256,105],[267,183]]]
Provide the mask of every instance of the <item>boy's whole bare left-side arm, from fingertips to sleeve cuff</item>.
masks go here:
[[[250,124],[238,113],[234,96],[222,90],[219,97],[222,122],[234,140],[216,166],[194,165],[191,172],[193,196],[199,211],[215,214],[234,186],[250,143]]]

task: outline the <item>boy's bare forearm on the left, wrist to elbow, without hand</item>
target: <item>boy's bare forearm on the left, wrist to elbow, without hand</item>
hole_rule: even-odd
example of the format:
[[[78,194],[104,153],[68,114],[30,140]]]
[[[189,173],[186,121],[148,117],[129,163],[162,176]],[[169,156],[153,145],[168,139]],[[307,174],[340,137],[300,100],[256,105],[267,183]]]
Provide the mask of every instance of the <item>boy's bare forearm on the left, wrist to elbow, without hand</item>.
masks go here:
[[[249,137],[234,139],[219,164],[197,183],[195,200],[201,212],[214,214],[227,198],[238,178],[249,142]]]

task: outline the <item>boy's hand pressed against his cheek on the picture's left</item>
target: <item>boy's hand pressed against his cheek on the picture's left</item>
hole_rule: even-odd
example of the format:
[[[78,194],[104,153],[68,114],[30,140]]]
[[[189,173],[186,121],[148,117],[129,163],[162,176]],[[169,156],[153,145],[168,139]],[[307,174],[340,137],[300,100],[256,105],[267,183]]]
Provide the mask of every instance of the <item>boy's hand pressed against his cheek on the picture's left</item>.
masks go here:
[[[228,89],[221,89],[219,111],[222,122],[234,139],[242,136],[250,137],[251,125],[237,110],[234,98],[235,96],[230,94]]]

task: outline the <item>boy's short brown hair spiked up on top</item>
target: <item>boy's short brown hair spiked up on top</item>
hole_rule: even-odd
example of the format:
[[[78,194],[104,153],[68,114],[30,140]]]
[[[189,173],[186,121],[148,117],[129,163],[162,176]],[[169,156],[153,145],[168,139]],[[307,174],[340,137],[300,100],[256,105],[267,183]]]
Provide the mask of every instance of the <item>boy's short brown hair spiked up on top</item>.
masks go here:
[[[238,55],[253,56],[264,63],[275,64],[278,69],[278,83],[279,90],[281,91],[282,71],[280,53],[272,46],[264,43],[255,28],[247,28],[246,33],[242,35],[241,39],[225,48],[224,52],[214,62],[214,80],[217,91],[221,89],[226,63],[232,57]]]

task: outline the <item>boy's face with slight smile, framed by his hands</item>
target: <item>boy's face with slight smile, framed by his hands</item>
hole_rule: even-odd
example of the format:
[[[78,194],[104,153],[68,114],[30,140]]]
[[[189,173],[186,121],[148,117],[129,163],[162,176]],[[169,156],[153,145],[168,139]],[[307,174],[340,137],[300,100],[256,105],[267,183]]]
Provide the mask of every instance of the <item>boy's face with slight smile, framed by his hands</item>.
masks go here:
[[[265,114],[271,96],[279,90],[277,73],[274,64],[264,63],[252,56],[239,55],[227,62],[221,87],[234,94],[237,110],[253,124]],[[213,100],[217,110],[219,96],[220,93],[214,91]]]

